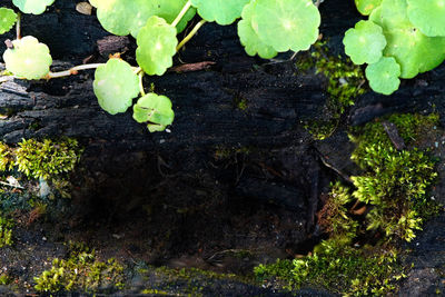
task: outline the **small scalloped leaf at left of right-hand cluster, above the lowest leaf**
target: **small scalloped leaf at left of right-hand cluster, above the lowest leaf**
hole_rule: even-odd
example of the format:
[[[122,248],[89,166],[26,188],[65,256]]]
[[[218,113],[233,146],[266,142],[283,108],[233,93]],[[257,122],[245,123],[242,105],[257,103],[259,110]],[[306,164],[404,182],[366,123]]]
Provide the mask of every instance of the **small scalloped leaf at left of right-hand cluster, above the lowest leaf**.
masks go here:
[[[372,21],[359,21],[354,29],[346,31],[343,43],[354,63],[375,63],[382,58],[386,39],[380,26]]]

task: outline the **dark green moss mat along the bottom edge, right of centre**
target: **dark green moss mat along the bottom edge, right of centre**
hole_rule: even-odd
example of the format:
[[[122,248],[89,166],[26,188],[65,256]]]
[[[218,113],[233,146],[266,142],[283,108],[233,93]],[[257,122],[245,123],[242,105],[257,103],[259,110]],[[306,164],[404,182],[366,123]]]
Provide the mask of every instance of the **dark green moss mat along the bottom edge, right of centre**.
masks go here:
[[[325,240],[312,256],[260,265],[255,274],[260,279],[275,278],[289,289],[310,285],[344,296],[382,296],[394,290],[394,280],[404,276],[397,253],[357,249],[347,242],[342,238]]]

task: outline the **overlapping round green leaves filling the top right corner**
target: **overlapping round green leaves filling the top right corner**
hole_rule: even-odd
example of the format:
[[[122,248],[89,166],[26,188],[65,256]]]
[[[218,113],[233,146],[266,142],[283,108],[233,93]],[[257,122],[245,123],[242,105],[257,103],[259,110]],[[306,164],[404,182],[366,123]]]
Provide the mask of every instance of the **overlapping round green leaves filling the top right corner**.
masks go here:
[[[398,89],[399,78],[414,78],[445,59],[443,0],[356,0],[369,16],[345,33],[345,52],[368,63],[370,88],[384,95]]]

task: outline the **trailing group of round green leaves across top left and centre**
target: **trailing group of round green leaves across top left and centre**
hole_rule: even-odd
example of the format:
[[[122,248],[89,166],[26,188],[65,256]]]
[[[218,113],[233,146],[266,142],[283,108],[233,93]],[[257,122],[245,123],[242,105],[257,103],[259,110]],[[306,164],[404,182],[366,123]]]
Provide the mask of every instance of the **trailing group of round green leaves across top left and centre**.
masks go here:
[[[40,14],[55,0],[13,0],[24,13]],[[102,27],[117,36],[131,34],[138,44],[136,61],[130,66],[112,58],[97,67],[93,90],[99,106],[110,115],[126,112],[136,98],[134,118],[141,122],[141,108],[148,116],[150,131],[161,131],[174,120],[171,102],[155,93],[146,96],[144,75],[162,76],[172,66],[172,57],[206,21],[238,23],[238,34],[246,52],[273,58],[278,52],[307,50],[318,38],[320,16],[312,0],[90,0]],[[196,16],[200,22],[184,38],[178,34]],[[18,14],[0,9],[0,33],[12,28]],[[53,78],[52,58],[46,44],[33,37],[18,37],[4,51],[8,71],[18,78]],[[76,68],[76,67],[75,67]],[[91,67],[92,68],[92,67]],[[78,69],[89,69],[88,66]],[[77,71],[77,69],[75,69]],[[76,72],[76,71],[72,71]],[[71,71],[68,71],[71,75]],[[140,96],[139,96],[140,95]],[[161,99],[159,99],[161,98]],[[149,102],[152,100],[151,102]],[[161,103],[160,103],[161,102]]]

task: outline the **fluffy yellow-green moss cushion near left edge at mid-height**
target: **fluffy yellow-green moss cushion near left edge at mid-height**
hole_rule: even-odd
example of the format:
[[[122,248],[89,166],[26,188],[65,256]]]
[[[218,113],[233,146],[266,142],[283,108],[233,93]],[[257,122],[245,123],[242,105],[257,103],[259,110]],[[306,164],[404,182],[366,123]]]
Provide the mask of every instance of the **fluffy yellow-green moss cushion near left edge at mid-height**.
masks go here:
[[[81,149],[76,139],[52,141],[22,140],[14,150],[14,165],[28,177],[49,179],[71,171],[79,161]]]

